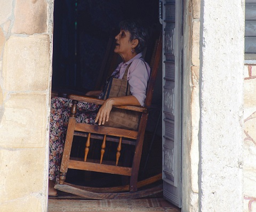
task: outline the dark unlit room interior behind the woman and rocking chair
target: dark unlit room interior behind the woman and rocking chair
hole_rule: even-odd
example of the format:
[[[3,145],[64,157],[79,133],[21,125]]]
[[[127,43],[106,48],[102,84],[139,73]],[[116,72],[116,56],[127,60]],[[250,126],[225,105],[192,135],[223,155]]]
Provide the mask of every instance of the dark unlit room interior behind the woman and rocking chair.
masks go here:
[[[99,89],[99,82],[105,81],[109,74],[100,72],[109,39],[114,40],[119,22],[129,18],[140,18],[149,26],[153,36],[162,29],[158,21],[158,0],[55,0],[53,91],[85,94]],[[145,60],[150,62],[150,58]],[[119,62],[118,59],[116,65]],[[143,144],[141,179],[162,172],[162,71],[158,71],[152,103]],[[73,144],[73,157],[81,156],[84,146],[85,142],[77,138]],[[95,141],[93,148],[93,152],[100,151],[100,143]],[[115,157],[113,148],[116,149],[107,146],[108,157]],[[129,158],[130,152],[132,150],[123,146],[121,160]],[[78,170],[67,174],[67,182],[87,186],[111,186],[124,181],[120,176]]]

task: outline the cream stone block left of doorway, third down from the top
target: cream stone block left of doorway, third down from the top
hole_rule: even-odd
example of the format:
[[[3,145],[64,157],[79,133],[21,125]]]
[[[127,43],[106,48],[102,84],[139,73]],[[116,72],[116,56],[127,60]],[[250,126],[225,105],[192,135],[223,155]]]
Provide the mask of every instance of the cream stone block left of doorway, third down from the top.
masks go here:
[[[45,146],[46,117],[45,94],[11,94],[4,100],[4,113],[0,123],[0,146],[6,148]]]

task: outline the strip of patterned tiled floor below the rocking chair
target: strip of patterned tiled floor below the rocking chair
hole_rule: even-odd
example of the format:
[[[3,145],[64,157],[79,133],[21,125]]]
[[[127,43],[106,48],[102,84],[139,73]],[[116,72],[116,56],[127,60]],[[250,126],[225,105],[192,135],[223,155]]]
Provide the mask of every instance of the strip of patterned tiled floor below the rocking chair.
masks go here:
[[[163,198],[134,200],[49,199],[48,212],[78,211],[169,211],[180,212]]]

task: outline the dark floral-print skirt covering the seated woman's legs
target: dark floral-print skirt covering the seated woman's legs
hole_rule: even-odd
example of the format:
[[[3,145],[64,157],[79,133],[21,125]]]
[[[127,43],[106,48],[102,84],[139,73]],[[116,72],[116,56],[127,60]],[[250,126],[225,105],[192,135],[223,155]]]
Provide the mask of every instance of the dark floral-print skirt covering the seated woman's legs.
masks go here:
[[[60,161],[62,158],[65,134],[68,127],[68,118],[72,100],[62,97],[54,97],[51,100],[50,115],[50,148],[49,148],[49,180],[59,183]],[[78,123],[97,125],[94,120],[97,116],[99,105],[87,102],[78,102]]]

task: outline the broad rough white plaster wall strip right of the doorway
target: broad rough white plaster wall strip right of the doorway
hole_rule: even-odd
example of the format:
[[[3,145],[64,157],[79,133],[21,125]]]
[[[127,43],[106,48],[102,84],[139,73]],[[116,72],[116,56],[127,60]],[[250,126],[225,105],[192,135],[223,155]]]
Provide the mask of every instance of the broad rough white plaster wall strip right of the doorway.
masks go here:
[[[243,211],[244,1],[202,0],[199,211]]]

